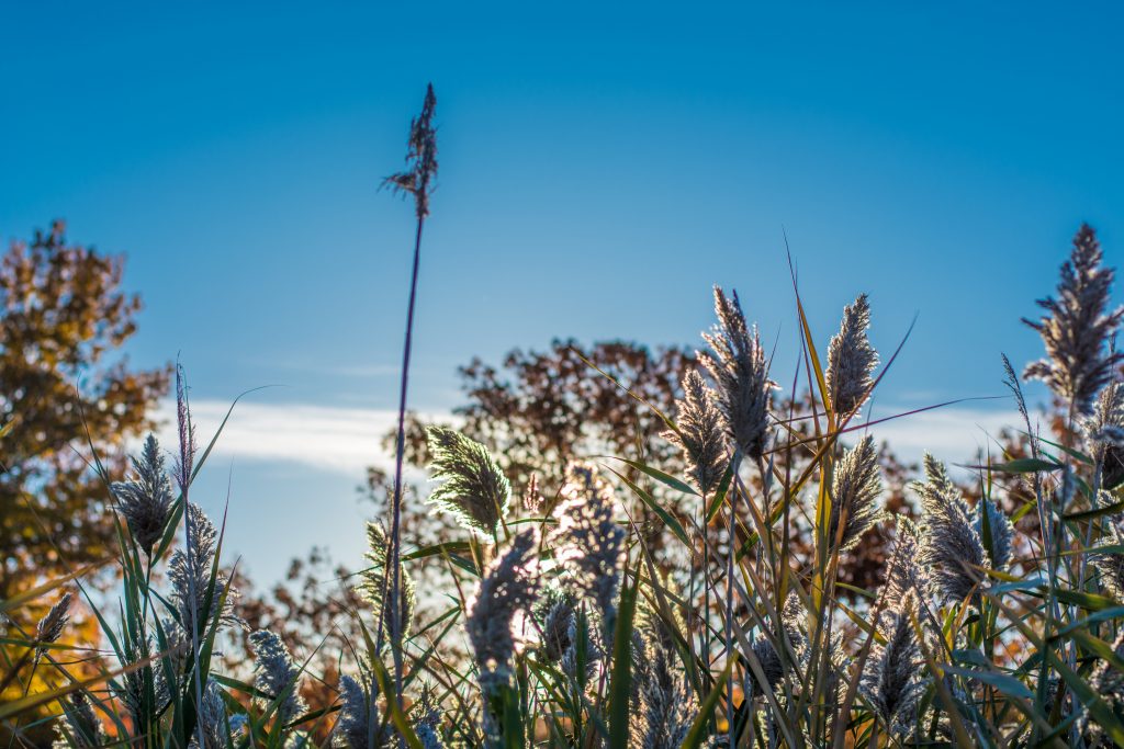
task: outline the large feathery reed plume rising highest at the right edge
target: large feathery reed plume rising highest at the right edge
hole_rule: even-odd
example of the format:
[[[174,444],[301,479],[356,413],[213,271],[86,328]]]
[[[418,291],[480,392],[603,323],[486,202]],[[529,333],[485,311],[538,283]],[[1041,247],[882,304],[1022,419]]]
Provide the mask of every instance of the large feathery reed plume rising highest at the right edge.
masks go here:
[[[1124,355],[1106,351],[1124,308],[1108,311],[1114,273],[1100,266],[1102,259],[1096,232],[1082,223],[1061,266],[1058,299],[1039,300],[1046,314],[1037,322],[1023,319],[1042,336],[1049,357],[1027,366],[1024,376],[1044,381],[1078,414],[1090,412],[1094,396],[1124,362]]]

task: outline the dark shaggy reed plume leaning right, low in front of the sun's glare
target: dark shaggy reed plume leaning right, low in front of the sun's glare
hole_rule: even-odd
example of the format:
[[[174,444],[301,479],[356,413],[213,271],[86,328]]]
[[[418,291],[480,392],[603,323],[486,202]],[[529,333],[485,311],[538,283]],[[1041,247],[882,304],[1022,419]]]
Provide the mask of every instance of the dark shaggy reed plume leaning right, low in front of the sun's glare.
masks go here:
[[[536,544],[533,530],[515,536],[511,547],[489,566],[480,579],[465,630],[481,674],[500,673],[506,676],[515,657],[513,620],[520,610],[531,608],[538,588],[533,570]]]

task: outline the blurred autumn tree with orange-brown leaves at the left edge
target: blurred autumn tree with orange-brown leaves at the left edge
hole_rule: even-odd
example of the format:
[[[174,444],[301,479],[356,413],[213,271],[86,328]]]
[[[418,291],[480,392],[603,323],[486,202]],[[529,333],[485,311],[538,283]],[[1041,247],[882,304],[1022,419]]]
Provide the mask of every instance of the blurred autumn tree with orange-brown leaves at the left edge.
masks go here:
[[[124,442],[152,426],[169,383],[119,353],[140,310],[123,271],[124,257],[67,243],[62,221],[0,261],[0,597],[112,550],[109,493],[88,462],[124,475]]]

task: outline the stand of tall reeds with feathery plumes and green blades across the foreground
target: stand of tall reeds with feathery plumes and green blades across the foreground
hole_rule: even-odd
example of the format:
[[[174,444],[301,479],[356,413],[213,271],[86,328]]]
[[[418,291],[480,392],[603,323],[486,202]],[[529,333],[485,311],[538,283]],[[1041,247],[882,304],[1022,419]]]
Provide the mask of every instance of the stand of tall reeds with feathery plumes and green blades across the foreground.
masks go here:
[[[430,90],[411,130],[416,161],[392,177],[416,200],[410,317],[436,167],[432,117]],[[25,652],[4,664],[3,683],[39,668],[53,686],[0,706],[0,720],[19,742],[25,716],[49,704],[58,740],[79,747],[1120,745],[1124,387],[1112,341],[1124,312],[1111,309],[1112,281],[1082,227],[1031,322],[1045,358],[1026,374],[1061,401],[1068,437],[1037,429],[1004,358],[1025,456],[985,456],[975,497],[926,457],[910,490],[917,523],[882,506],[878,422],[862,409],[895,356],[879,369],[865,295],[824,347],[797,293],[801,356],[788,381],[807,408],[785,413],[737,294],[716,287],[703,368],[676,412],[659,414],[683,475],[618,456],[572,464],[561,485],[511,502],[484,446],[435,429],[443,483],[430,508],[461,532],[409,548],[399,432],[389,528],[369,527],[360,584],[370,609],[351,613],[362,638],[336,654],[344,675],[325,710],[301,698],[320,678],[308,667],[317,642],[290,654],[255,632],[254,663],[219,673],[216,647],[242,623],[218,561],[221,527],[188,499],[210,447],[194,460],[181,389],[178,491],[153,439],[133,476],[103,476],[121,587],[116,610],[96,611],[108,648],[100,675],[74,678],[58,657],[72,647],[58,645],[70,591],[93,603],[80,577],[6,601],[6,642]],[[410,335],[408,323],[404,408]],[[636,408],[651,407],[637,398]],[[656,486],[687,511],[661,504]],[[678,567],[649,548],[641,515],[663,527]],[[895,535],[885,582],[850,586],[841,567],[876,526]],[[422,565],[444,567],[450,585],[425,592],[429,613],[416,621],[409,578]],[[53,596],[63,597],[43,622],[21,621],[29,600]]]

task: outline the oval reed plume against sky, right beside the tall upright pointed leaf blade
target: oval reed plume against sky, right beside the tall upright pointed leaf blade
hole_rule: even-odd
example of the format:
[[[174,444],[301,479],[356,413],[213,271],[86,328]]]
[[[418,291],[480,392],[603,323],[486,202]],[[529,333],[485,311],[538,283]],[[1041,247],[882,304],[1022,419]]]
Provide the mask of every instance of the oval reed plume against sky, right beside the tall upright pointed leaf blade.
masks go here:
[[[878,351],[870,345],[870,302],[859,294],[843,308],[840,331],[827,346],[827,372],[824,373],[827,398],[840,417],[855,412],[867,400],[874,381]]]

